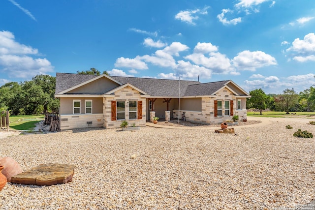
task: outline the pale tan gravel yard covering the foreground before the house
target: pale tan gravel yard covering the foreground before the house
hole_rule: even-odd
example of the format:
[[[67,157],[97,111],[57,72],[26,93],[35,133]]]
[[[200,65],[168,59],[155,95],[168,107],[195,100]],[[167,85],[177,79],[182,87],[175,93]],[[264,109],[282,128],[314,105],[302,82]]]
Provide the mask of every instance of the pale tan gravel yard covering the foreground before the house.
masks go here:
[[[254,118],[248,117],[248,120]],[[0,156],[23,170],[75,165],[73,181],[53,186],[8,183],[0,209],[280,209],[315,198],[315,134],[306,120],[262,119],[215,128],[77,129],[0,140]],[[293,129],[286,129],[290,124]]]

